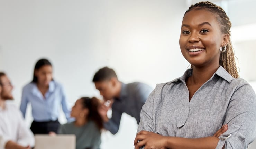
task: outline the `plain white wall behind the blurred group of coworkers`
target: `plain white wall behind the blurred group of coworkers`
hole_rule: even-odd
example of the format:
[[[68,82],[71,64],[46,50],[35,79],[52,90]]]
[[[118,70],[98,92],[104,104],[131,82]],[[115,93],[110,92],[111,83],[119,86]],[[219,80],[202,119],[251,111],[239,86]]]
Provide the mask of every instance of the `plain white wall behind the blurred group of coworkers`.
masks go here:
[[[15,85],[15,103],[19,106],[22,86],[31,81],[42,57],[53,63],[55,80],[64,85],[71,105],[81,96],[99,97],[91,80],[102,66],[114,68],[125,83],[141,81],[152,87],[181,76],[188,66],[179,48],[188,3],[0,0],[0,70]],[[66,122],[63,115],[60,122]],[[102,149],[133,148],[136,129],[135,119],[124,114],[115,136],[103,134]]]

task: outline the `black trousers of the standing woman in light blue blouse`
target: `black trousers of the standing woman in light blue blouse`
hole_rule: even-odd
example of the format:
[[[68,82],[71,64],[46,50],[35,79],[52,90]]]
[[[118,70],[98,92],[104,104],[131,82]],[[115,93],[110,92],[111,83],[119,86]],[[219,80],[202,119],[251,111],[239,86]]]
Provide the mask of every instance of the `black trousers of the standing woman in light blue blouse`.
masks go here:
[[[48,134],[50,131],[57,133],[59,126],[58,120],[46,122],[33,121],[30,129],[34,134]]]

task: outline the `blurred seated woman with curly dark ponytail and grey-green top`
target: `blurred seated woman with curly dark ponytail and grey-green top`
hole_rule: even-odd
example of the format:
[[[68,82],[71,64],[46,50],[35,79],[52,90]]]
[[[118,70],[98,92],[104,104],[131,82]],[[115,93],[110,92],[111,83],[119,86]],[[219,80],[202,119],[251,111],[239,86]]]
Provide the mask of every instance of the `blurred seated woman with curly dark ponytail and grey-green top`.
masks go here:
[[[76,149],[100,148],[103,120],[97,111],[99,104],[95,97],[76,100],[70,113],[75,121],[61,125],[59,134],[76,135]]]

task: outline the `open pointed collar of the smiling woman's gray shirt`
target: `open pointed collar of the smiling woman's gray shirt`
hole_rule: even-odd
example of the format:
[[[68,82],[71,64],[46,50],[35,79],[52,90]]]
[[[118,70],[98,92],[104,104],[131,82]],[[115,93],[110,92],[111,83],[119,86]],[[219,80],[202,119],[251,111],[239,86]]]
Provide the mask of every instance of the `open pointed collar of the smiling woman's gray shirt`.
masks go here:
[[[181,77],[172,80],[171,83],[172,83],[172,82],[180,82],[180,81],[183,82],[183,83],[185,83],[186,78],[188,78],[189,76],[191,76],[191,75],[192,75],[192,72],[193,72],[193,69],[187,69],[187,70],[185,71],[185,73],[184,73]],[[220,77],[222,77],[224,80],[228,81],[229,83],[230,83],[230,82],[232,81],[232,79],[233,79],[233,77],[232,77],[222,66],[220,66],[220,67],[217,69],[217,71],[212,75],[212,77],[211,77],[209,80],[211,80],[211,79],[215,76],[215,74],[218,75],[218,76],[220,76]]]

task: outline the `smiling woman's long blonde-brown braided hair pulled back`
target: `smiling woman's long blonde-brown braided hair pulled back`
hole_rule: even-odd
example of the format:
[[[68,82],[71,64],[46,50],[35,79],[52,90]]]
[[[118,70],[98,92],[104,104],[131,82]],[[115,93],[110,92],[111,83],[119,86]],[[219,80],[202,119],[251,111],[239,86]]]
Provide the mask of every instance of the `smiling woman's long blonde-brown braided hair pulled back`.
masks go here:
[[[186,13],[188,13],[193,9],[196,9],[196,10],[204,9],[212,12],[216,16],[216,19],[220,24],[221,32],[223,34],[229,34],[229,36],[231,36],[230,34],[231,22],[229,20],[229,17],[225,13],[225,11],[220,6],[217,6],[216,4],[213,4],[209,1],[199,2],[194,5],[191,5],[189,9],[185,12],[184,16],[186,15]],[[230,38],[227,45],[227,51],[220,54],[220,65],[224,69],[226,69],[226,71],[232,77],[234,78],[239,77],[237,72],[236,62],[235,62],[234,49],[233,49]]]

